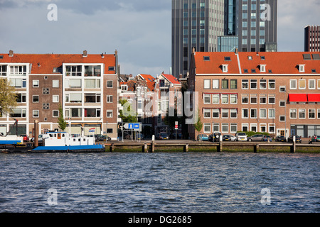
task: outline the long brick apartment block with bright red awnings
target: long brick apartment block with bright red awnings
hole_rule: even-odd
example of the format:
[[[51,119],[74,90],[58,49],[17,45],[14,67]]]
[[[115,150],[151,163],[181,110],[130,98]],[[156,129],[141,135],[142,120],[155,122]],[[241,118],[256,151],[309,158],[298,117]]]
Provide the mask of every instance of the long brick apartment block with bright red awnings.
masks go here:
[[[193,52],[188,89],[201,133],[320,134],[319,52]]]

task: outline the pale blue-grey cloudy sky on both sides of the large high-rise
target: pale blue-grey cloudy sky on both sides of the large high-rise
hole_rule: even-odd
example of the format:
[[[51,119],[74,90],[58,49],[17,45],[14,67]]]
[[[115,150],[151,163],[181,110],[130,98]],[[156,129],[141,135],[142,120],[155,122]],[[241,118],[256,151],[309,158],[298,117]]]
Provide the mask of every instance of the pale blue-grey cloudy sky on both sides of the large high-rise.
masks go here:
[[[49,21],[49,4],[58,21]],[[278,1],[278,50],[303,51],[319,0]],[[124,74],[169,73],[171,0],[0,0],[0,52],[114,53]]]

